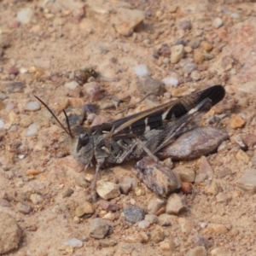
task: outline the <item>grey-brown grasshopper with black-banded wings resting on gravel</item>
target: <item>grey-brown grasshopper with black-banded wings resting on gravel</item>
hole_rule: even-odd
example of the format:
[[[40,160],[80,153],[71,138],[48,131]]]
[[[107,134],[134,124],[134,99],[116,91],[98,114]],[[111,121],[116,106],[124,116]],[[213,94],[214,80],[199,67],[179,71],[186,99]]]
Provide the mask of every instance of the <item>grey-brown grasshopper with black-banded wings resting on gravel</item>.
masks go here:
[[[91,185],[94,190],[97,174],[104,163],[120,164],[124,160],[139,159],[146,154],[157,161],[155,155],[162,148],[179,135],[197,127],[202,115],[220,102],[224,95],[222,85],[213,85],[141,113],[102,125],[76,125],[73,129],[70,128],[65,110],[67,128],[38,96],[36,98],[67,133],[73,157],[86,167],[91,166],[92,160],[96,160],[96,174]]]

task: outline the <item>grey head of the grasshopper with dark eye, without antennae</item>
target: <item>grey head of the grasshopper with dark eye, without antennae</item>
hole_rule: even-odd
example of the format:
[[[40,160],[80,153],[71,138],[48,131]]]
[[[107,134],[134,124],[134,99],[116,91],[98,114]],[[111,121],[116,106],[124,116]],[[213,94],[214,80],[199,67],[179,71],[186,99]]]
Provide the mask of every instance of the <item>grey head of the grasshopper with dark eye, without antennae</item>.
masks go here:
[[[94,155],[94,141],[90,128],[76,125],[72,129],[70,137],[70,153],[76,160],[84,165],[90,164]]]

